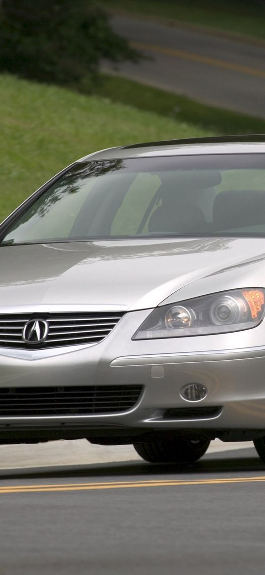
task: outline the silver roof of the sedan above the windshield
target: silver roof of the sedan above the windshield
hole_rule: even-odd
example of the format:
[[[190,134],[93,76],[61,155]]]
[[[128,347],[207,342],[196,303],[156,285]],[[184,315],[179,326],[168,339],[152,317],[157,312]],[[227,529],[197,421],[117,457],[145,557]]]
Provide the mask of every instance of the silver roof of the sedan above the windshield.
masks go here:
[[[79,162],[86,160],[153,158],[156,156],[201,155],[201,154],[264,154],[265,135],[213,136],[144,142],[107,148],[93,152]]]

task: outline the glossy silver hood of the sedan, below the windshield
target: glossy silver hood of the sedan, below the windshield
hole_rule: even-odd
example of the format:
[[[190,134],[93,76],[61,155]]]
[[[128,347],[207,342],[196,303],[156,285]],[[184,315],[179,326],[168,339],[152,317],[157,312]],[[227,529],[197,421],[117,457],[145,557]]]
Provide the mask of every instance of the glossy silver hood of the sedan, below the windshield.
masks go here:
[[[0,248],[4,306],[158,304],[233,287],[262,287],[265,239],[189,238]]]

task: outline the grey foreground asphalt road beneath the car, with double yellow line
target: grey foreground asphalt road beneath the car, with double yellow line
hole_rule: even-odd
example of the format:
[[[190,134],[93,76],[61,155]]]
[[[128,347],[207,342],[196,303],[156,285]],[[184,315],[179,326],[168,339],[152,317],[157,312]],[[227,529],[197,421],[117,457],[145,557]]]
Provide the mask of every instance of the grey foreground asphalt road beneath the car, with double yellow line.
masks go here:
[[[0,471],[1,575],[261,575],[265,469],[254,448],[193,465]]]

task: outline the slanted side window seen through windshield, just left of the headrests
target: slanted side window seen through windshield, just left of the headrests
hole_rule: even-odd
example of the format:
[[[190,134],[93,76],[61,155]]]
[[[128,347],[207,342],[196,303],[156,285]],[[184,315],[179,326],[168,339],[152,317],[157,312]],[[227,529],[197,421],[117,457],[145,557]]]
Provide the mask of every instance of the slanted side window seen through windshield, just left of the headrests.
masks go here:
[[[161,185],[158,175],[140,173],[130,185],[116,216],[111,235],[135,235],[144,214]]]

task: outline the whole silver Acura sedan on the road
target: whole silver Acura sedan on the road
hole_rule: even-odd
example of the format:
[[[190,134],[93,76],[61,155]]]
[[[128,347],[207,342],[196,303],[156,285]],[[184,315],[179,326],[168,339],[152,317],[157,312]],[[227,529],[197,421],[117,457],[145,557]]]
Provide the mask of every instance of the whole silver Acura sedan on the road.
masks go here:
[[[265,137],[95,152],[0,226],[0,442],[265,462]]]

